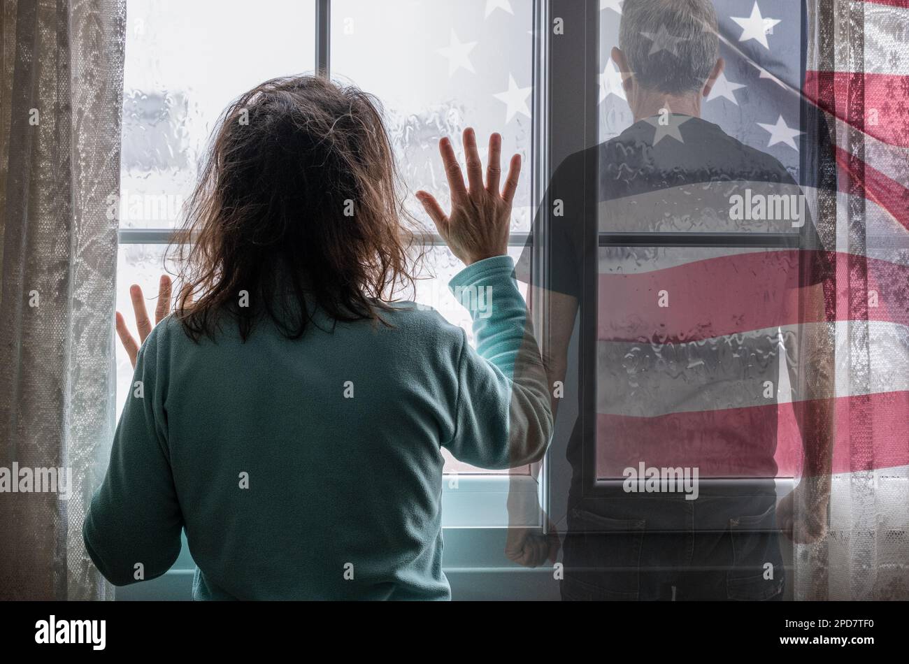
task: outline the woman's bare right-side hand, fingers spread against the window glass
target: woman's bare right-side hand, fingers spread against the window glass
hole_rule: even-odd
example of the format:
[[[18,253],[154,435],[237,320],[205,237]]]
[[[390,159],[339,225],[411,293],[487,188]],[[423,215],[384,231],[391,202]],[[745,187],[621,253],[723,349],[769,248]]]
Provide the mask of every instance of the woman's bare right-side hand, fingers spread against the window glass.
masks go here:
[[[442,164],[451,191],[451,213],[446,215],[431,193],[419,191],[416,198],[423,203],[426,213],[452,253],[465,265],[471,265],[508,252],[512,202],[521,174],[521,156],[514,154],[511,158],[508,175],[500,193],[502,136],[493,134],[489,137],[489,164],[486,166],[485,184],[483,164],[476,149],[476,134],[472,128],[464,130],[463,140],[469,190],[464,186],[464,174],[454,156],[451,141],[448,138],[439,141],[439,152],[442,154]]]

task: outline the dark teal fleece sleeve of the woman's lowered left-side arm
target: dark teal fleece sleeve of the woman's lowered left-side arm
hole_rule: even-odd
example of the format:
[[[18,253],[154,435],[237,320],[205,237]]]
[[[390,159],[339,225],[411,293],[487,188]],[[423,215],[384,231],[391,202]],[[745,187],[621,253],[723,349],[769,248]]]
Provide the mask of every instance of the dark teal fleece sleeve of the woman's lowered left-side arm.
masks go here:
[[[139,351],[110,465],[82,529],[95,566],[117,586],[161,576],[180,554],[183,515],[164,412],[168,322],[156,325]]]

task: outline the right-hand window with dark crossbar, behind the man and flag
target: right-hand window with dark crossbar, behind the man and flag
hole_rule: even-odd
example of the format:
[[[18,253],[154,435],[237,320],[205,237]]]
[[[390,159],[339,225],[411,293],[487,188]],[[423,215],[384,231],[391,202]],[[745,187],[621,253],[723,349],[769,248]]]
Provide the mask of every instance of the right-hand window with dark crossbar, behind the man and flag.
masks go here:
[[[601,5],[602,143],[623,134],[635,119],[611,58],[619,43],[620,3]],[[762,3],[764,25],[774,24],[764,35],[767,45],[759,37],[738,39],[747,36],[744,5],[714,0],[714,6],[725,68],[703,101],[702,118],[760,151],[753,159],[761,153],[774,157],[784,166],[783,175],[799,182],[801,133],[788,128],[800,124],[800,4]],[[673,26],[667,26],[670,40],[672,34]],[[659,35],[648,38],[654,42],[651,55],[661,48],[672,52],[670,42],[657,44]],[[654,134],[654,144],[659,139],[680,150],[703,146],[696,134],[702,129],[691,129],[697,123],[688,125],[686,135],[690,118],[668,111],[664,129],[658,116],[650,120],[654,132],[665,134]],[[671,153],[664,155],[671,163]],[[723,164],[723,157],[714,156],[714,164]],[[637,469],[644,460],[657,467],[700,466],[702,477],[774,476],[774,464],[752,446],[760,440],[775,446],[777,409],[790,401],[784,351],[789,332],[778,309],[793,285],[787,280],[799,269],[790,250],[804,242],[807,229],[800,222],[811,225],[804,207],[798,218],[796,199],[804,205],[804,197],[795,194],[801,190],[766,184],[759,176],[746,182],[733,167],[724,173],[720,165],[709,181],[667,178],[656,191],[623,190],[614,186],[623,180],[622,166],[601,162],[601,168],[608,174],[601,173],[597,192],[599,249],[596,264],[588,266],[598,295],[595,303],[586,302],[595,313],[587,317],[585,362],[597,367],[595,398],[587,401],[593,412],[584,440],[595,441],[588,478],[615,481],[624,468]],[[747,172],[757,171],[755,166]],[[752,216],[750,203],[744,203],[751,187],[757,196],[783,194],[787,207],[792,196],[795,207]],[[735,212],[736,195],[748,213]],[[758,457],[760,463],[751,462]]]

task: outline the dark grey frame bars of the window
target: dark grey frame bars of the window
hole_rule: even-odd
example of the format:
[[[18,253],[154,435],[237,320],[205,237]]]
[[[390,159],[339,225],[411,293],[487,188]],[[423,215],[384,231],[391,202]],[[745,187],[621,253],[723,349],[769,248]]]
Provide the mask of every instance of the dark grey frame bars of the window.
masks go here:
[[[331,75],[331,0],[315,0],[315,70],[318,74]],[[599,34],[601,12],[597,0],[534,0],[533,6],[534,45],[533,45],[533,119],[531,139],[531,208],[540,210],[537,213],[529,233],[512,233],[509,237],[510,247],[529,247],[532,255],[531,270],[534,279],[540,283],[549,282],[552,256],[549,223],[544,210],[539,205],[547,184],[554,175],[555,167],[565,157],[599,142]],[[576,30],[583,25],[581,38],[565,38],[565,35],[554,37],[551,29],[554,18],[561,18],[566,30]],[[571,36],[571,35],[569,35]],[[596,178],[586,178],[596,182]],[[589,198],[589,197],[588,197]],[[591,203],[595,203],[592,201]],[[595,212],[595,210],[594,210]],[[175,238],[175,228],[121,228],[120,244],[168,244]],[[426,233],[419,238],[426,246],[445,246],[445,241],[438,233]],[[792,247],[797,246],[798,237],[792,233],[614,233],[597,231],[594,241],[596,246],[637,246],[637,247]],[[584,294],[587,306],[582,311],[591,310],[589,302],[594,302],[595,293]],[[547,325],[548,297],[546,289],[534,289],[530,302],[533,312],[534,328],[541,349],[548,351],[550,346]],[[582,328],[584,328],[582,315]],[[582,353],[586,348],[584,330],[582,334]],[[590,362],[580,359],[582,368]],[[585,382],[586,378],[582,379]],[[589,426],[589,404],[591,395],[582,393],[578,404],[578,417],[582,420],[585,431]],[[593,397],[595,399],[595,397]],[[584,444],[585,448],[590,447]],[[586,453],[585,453],[586,455]],[[550,458],[547,453],[540,465],[538,480],[528,478],[537,484],[540,505],[549,510]],[[584,468],[593,466],[585,459]],[[447,475],[453,477],[454,473]],[[496,480],[500,479],[499,491],[506,493],[508,482],[514,478],[504,474],[468,475],[458,473],[459,486],[470,487],[473,482],[482,486],[482,492],[492,493]],[[594,484],[602,481],[593,478]],[[585,482],[587,484],[587,482]],[[448,482],[446,481],[446,487]],[[446,490],[446,493],[454,491]],[[452,500],[452,499],[449,499]],[[463,521],[461,519],[459,522]],[[542,524],[544,525],[544,524]]]

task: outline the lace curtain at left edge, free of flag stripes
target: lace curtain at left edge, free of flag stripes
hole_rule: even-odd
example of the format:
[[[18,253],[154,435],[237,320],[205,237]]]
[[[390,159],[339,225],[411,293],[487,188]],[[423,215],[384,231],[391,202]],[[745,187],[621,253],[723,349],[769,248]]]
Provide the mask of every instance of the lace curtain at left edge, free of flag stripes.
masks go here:
[[[113,438],[125,0],[4,0],[0,468],[72,469],[0,494],[0,600],[105,600],[82,522]]]

